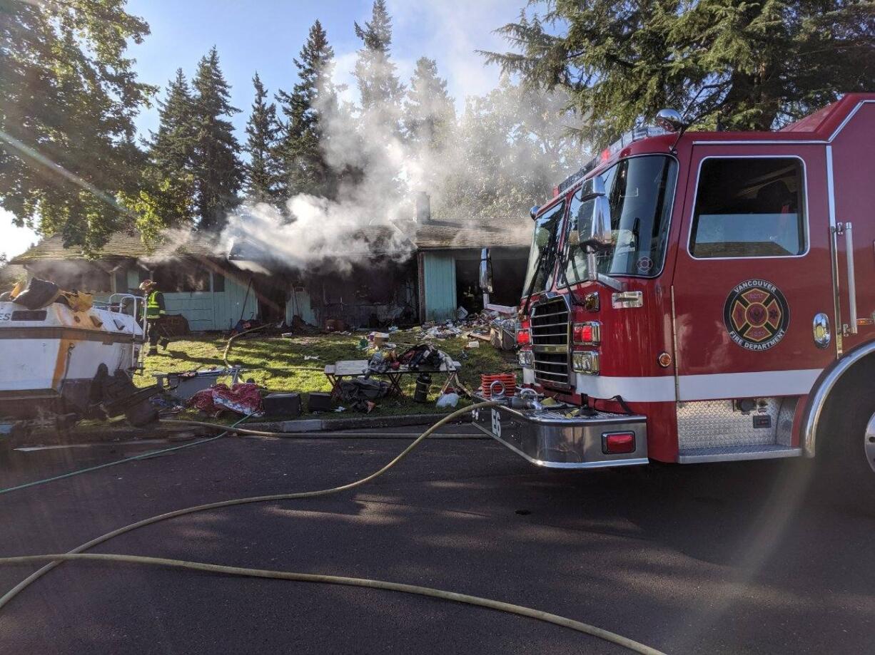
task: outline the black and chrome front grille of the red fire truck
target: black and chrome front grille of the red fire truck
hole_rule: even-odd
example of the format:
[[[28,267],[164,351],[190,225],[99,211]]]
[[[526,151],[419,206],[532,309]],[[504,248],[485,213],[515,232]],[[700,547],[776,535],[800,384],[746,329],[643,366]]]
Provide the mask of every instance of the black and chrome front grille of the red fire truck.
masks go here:
[[[535,379],[553,386],[569,383],[568,307],[561,298],[535,306],[531,314]]]

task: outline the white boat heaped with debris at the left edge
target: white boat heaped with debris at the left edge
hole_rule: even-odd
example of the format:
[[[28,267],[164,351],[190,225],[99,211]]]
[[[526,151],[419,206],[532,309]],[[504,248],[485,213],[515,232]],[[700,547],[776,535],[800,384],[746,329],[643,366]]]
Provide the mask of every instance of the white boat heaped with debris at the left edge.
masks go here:
[[[137,390],[131,381],[144,340],[137,297],[98,304],[44,279],[16,285],[10,297],[0,302],[0,422],[156,417],[149,398],[158,388]]]

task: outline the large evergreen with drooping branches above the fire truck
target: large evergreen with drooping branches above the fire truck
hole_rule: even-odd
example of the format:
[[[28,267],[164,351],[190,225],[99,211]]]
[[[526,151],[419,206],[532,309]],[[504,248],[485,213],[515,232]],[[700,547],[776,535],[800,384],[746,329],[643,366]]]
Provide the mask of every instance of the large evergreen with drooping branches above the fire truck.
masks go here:
[[[550,0],[486,52],[530,84],[570,92],[599,145],[662,107],[698,127],[766,130],[875,86],[867,0]]]

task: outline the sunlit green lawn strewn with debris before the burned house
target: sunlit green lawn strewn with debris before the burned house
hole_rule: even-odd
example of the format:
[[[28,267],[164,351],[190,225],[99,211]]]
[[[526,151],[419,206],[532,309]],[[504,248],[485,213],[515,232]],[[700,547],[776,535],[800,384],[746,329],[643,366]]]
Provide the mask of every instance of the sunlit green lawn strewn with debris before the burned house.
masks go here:
[[[354,333],[351,336],[314,334],[283,339],[254,333],[234,341],[228,361],[232,364],[240,364],[246,369],[242,374],[242,380],[251,378],[255,383],[272,391],[298,391],[303,394],[311,391],[329,391],[331,386],[323,372],[325,364],[345,359],[367,359],[369,353],[357,348],[360,339],[364,336],[365,333]],[[408,331],[392,334],[391,340],[397,344],[399,353],[419,342],[416,340],[416,334]],[[454,338],[430,342],[451,355],[454,360],[461,362],[462,370],[459,378],[469,389],[477,389],[480,373],[502,373],[517,369],[514,353],[502,352],[486,341],[479,341],[479,348],[465,349],[468,341],[464,338]],[[226,342],[226,338],[218,335],[191,336],[185,340],[173,341],[166,351],[146,357],[145,375],[137,376],[135,380],[137,384],[146,386],[154,383],[153,373],[221,367],[223,366],[222,351]],[[304,355],[318,355],[319,359],[307,361],[304,360]],[[379,407],[372,413],[377,415],[444,411],[438,410],[435,406],[440,385],[444,381],[443,377],[432,376],[435,383],[431,386],[429,403],[413,402],[415,378],[416,376],[405,376],[407,382],[403,398],[392,396],[381,398],[378,401]],[[228,382],[228,380],[221,381]],[[463,399],[462,404],[465,402]],[[337,416],[353,416],[353,412],[347,410]]]

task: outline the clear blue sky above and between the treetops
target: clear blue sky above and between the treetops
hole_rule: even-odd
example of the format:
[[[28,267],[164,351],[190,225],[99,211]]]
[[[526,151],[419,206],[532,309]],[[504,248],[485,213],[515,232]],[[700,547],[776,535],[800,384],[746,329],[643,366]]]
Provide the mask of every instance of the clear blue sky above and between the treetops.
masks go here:
[[[495,67],[486,67],[474,50],[505,50],[492,31],[519,16],[525,0],[388,0],[395,38],[393,57],[403,81],[423,55],[437,59],[438,72],[449,82],[458,107],[465,96],[485,93],[498,81]],[[257,70],[275,93],[290,89],[296,69],[292,58],[304,44],[317,18],[328,32],[337,56],[337,77],[350,84],[355,51],[360,47],[353,21],[370,16],[371,0],[129,0],[130,13],[144,17],[151,35],[132,45],[140,79],[165,86],[178,67],[190,79],[198,60],[213,45],[222,71],[232,86],[231,100],[242,109],[235,116],[238,139],[252,103],[252,76]],[[347,92],[352,99],[354,88]],[[137,120],[143,134],[158,125],[157,107]],[[36,236],[11,225],[0,211],[0,252],[23,252]]]

